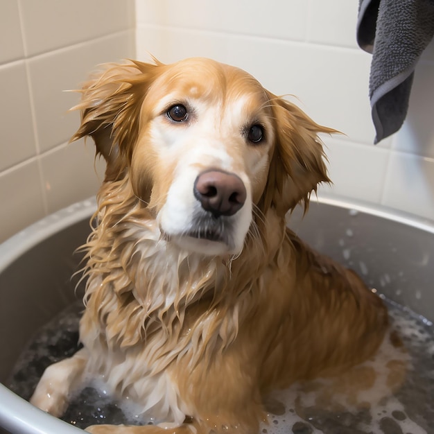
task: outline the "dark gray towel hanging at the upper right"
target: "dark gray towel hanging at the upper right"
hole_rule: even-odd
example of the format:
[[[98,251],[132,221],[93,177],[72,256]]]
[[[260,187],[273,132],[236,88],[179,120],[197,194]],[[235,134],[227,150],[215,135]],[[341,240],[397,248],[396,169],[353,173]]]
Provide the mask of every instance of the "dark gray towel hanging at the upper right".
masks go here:
[[[372,53],[374,143],[406,119],[417,61],[434,35],[434,0],[359,0],[357,42]]]

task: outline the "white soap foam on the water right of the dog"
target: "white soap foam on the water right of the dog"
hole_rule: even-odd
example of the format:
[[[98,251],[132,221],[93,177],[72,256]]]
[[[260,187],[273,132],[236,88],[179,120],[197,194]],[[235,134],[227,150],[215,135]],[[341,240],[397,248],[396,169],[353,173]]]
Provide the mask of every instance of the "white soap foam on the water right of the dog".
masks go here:
[[[415,316],[406,315],[405,313],[403,314],[402,311],[397,311],[397,309],[393,309],[392,306],[390,306],[390,309],[394,328],[399,329],[400,336],[402,336],[402,338],[411,339],[413,346],[424,345],[426,347],[425,351],[427,351],[428,354],[434,354],[434,343],[432,345],[426,344],[426,341],[428,339],[432,340],[433,337],[428,331],[425,331],[421,327],[420,318],[415,318]],[[419,426],[419,424],[408,416],[406,406],[399,401],[399,398],[390,390],[387,383],[388,374],[390,373],[388,368],[389,361],[403,363],[403,365],[406,365],[406,370],[408,371],[413,369],[411,355],[406,351],[394,347],[388,337],[385,338],[378,353],[372,360],[359,365],[359,367],[371,367],[376,372],[374,388],[361,390],[358,392],[356,399],[358,403],[370,403],[370,422],[366,422],[364,419],[358,420],[358,413],[361,409],[350,404],[347,397],[339,394],[334,394],[333,402],[329,403],[330,408],[334,406],[339,408],[339,411],[335,412],[333,415],[333,412],[329,411],[330,408],[325,408],[324,410],[328,412],[327,418],[330,419],[334,417],[336,424],[338,424],[342,413],[350,413],[352,415],[351,420],[356,421],[356,426],[351,425],[351,428],[358,429],[358,432],[365,433],[387,433],[387,428],[384,428],[384,426],[381,427],[381,424],[384,418],[389,418],[392,419],[392,423],[401,428],[403,433],[427,434],[427,431],[422,426]],[[434,369],[431,374],[434,374]],[[429,376],[430,373],[426,372],[426,375]],[[327,388],[333,387],[333,380],[320,379],[315,380],[314,383],[314,388],[306,388],[306,385],[295,383],[288,390],[274,392],[272,398],[277,399],[284,405],[285,413],[282,415],[270,414],[269,423],[262,424],[260,432],[268,434],[288,433],[288,427],[292,427],[295,423],[299,422],[303,424],[301,426],[306,427],[306,432],[315,434],[324,433],[324,431],[318,428],[318,426],[321,425],[321,418],[316,419],[315,414],[313,417],[309,416],[309,414],[319,401],[320,394],[324,390],[327,390]],[[318,385],[320,385],[320,387],[318,387]],[[397,414],[400,415],[398,419],[395,417]],[[317,428],[315,428],[314,424]],[[342,425],[342,427],[343,426],[345,425]],[[348,428],[348,426],[346,426],[346,428]],[[311,431],[308,431],[309,429]],[[386,429],[386,431],[383,431],[384,429]]]

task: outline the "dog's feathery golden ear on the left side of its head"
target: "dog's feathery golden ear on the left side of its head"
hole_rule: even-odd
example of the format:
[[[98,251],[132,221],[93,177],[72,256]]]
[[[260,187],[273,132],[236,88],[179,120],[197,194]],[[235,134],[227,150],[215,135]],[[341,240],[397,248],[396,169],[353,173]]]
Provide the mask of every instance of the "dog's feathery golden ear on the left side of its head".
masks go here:
[[[83,85],[82,98],[71,110],[81,110],[81,125],[71,141],[91,136],[96,153],[107,162],[105,181],[119,180],[139,134],[141,105],[146,90],[162,66],[137,62],[105,64]]]

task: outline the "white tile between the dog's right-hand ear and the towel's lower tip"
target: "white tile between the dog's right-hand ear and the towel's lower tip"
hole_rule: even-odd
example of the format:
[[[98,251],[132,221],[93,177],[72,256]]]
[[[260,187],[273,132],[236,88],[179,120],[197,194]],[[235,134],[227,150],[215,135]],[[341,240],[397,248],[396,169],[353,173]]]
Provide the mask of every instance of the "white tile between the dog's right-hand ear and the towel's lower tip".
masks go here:
[[[327,192],[379,203],[390,151],[336,139],[324,138],[324,143],[333,184],[321,186],[318,196]]]

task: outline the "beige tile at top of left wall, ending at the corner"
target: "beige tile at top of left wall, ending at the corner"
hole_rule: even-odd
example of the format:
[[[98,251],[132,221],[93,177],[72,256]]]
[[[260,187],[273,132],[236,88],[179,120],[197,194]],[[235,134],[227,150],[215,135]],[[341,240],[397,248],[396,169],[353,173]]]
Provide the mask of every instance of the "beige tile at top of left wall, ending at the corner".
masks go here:
[[[21,0],[27,55],[134,26],[133,0]]]

